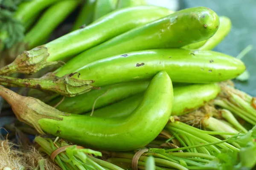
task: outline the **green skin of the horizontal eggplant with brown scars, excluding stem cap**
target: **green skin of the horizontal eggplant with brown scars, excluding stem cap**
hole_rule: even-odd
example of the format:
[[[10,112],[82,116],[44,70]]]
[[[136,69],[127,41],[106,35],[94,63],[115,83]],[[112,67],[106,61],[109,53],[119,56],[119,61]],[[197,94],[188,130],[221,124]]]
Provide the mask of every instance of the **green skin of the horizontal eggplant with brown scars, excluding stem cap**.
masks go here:
[[[209,83],[233,79],[244,72],[244,63],[215,51],[157,49],[108,57],[75,71],[78,79],[94,80],[94,87],[151,79],[166,71],[172,82]]]

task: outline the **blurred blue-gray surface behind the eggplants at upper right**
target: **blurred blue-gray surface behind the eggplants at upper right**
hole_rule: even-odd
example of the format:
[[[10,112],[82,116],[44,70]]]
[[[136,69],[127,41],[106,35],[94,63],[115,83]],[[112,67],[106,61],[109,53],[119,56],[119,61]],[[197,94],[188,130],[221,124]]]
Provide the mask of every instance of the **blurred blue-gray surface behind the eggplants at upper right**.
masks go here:
[[[219,16],[230,17],[230,34],[215,51],[236,57],[247,45],[253,45],[253,50],[242,59],[250,73],[250,79],[247,82],[236,82],[236,87],[256,96],[256,0],[183,0],[182,6],[206,6]]]

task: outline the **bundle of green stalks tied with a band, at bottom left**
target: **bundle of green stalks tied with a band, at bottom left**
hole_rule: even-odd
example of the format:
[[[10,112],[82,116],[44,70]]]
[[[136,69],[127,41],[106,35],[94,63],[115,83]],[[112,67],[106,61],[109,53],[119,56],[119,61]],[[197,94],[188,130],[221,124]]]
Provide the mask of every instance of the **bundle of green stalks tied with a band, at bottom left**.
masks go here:
[[[62,152],[56,155],[54,159],[54,162],[58,164],[62,170],[123,170],[107,161],[94,158],[93,156],[102,156],[102,153],[99,151],[69,145],[64,140],[53,142],[52,139],[42,138],[40,136],[36,136],[34,141],[41,146],[38,150],[47,153],[48,156],[51,156],[56,149],[62,147],[62,149],[60,149]],[[56,146],[58,146],[58,148]],[[55,153],[53,154],[55,155]]]

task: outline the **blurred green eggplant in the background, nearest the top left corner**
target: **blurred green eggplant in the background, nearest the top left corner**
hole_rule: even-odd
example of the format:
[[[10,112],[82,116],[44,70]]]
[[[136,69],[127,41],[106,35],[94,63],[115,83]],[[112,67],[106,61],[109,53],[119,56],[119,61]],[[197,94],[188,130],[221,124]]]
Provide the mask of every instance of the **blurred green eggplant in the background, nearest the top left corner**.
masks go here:
[[[22,23],[29,23],[29,20],[32,20],[41,11],[56,2],[61,2],[61,0],[29,0],[23,2],[15,11],[15,18]],[[27,25],[26,27],[29,26]]]

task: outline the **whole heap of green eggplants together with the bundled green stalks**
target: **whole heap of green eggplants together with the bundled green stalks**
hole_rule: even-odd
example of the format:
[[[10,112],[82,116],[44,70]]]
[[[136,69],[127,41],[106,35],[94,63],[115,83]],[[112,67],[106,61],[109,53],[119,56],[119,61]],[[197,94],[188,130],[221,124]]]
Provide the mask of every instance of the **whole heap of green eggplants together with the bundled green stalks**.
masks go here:
[[[246,67],[212,51],[228,17],[144,0],[12,5],[0,11],[0,96],[61,169],[255,167],[256,99],[232,82]],[[49,40],[77,7],[72,31]]]

